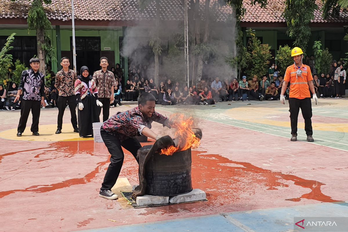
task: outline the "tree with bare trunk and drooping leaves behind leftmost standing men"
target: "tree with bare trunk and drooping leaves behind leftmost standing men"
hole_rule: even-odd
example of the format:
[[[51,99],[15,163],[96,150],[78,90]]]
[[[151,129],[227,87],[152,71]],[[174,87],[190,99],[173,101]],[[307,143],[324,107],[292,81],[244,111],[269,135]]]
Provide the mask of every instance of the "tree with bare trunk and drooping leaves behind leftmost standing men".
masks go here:
[[[11,0],[16,1],[16,0]],[[51,0],[32,0],[31,7],[28,11],[27,24],[29,30],[36,30],[36,40],[37,40],[37,52],[38,58],[40,60],[40,69],[41,73],[45,74],[45,61],[51,60],[54,56],[52,55],[53,47],[50,44],[45,43],[45,30],[51,29],[51,22],[48,20],[48,17],[45,12],[45,8],[42,5],[45,3],[46,5],[51,4]],[[47,35],[46,35],[47,38]],[[50,59],[46,59],[45,57],[45,48],[49,49]],[[54,53],[54,50],[53,50]]]

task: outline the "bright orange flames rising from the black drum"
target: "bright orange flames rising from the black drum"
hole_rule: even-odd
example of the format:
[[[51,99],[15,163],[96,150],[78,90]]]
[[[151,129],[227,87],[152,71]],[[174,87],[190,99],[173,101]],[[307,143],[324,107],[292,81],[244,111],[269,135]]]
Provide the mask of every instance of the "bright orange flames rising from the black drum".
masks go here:
[[[161,154],[172,155],[177,151],[185,151],[190,147],[197,148],[199,146],[200,139],[193,133],[191,126],[193,118],[185,118],[183,114],[172,114],[170,119],[172,120],[171,126],[177,128],[175,132],[175,139],[179,141],[179,145],[169,146],[167,149],[162,149]]]

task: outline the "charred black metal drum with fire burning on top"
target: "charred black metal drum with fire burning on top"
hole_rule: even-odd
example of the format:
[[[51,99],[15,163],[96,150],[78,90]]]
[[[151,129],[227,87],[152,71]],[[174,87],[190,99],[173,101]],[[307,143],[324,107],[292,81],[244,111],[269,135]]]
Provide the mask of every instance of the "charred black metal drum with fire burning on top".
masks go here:
[[[143,147],[144,151],[150,148],[151,145]],[[191,149],[173,155],[153,154],[145,165],[146,194],[172,196],[191,192],[191,162]]]

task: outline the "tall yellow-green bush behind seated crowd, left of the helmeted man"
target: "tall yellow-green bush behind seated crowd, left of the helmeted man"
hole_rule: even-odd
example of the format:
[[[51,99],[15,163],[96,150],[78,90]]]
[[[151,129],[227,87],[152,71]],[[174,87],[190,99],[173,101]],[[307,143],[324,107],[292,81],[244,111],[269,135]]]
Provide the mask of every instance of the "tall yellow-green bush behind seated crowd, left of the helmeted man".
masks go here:
[[[247,47],[249,53],[247,57],[248,68],[245,71],[248,80],[251,80],[254,75],[261,79],[262,75],[267,73],[269,60],[272,58],[269,49],[271,46],[261,44],[261,41],[255,36],[251,37]]]

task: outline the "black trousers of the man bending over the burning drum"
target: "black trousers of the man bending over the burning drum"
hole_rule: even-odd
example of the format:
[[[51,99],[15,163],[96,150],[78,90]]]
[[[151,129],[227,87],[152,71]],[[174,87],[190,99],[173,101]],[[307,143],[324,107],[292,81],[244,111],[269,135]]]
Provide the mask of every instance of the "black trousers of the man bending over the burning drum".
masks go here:
[[[105,146],[108,148],[108,151],[111,154],[110,165],[105,173],[104,181],[100,190],[111,190],[120,174],[123,159],[125,157],[122,147],[132,153],[136,161],[139,163],[137,151],[141,148],[141,145],[135,137],[130,137],[125,141],[120,142],[118,137],[110,135],[102,128],[100,129],[100,134],[103,138]]]

